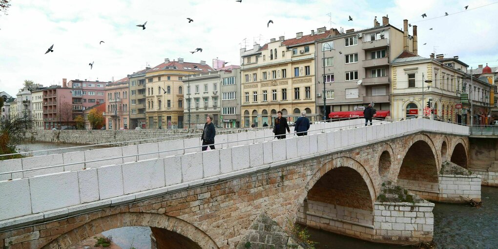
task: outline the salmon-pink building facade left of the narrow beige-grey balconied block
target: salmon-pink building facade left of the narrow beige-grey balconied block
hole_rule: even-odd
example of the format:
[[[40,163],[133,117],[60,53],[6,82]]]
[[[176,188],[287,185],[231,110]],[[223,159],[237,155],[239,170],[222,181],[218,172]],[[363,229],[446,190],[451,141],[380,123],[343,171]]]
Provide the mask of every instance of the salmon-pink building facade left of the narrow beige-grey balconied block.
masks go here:
[[[127,129],[129,125],[129,79],[107,83],[106,85],[106,129]]]

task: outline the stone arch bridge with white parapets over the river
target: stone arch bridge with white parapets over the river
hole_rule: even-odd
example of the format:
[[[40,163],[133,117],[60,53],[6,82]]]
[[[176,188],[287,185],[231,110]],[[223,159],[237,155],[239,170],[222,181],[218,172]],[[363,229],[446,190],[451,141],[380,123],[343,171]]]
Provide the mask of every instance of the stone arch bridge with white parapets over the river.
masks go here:
[[[61,249],[148,226],[158,248],[285,245],[249,236],[265,214],[280,227],[297,222],[412,244],[432,240],[434,204],[383,200],[387,186],[408,189],[412,200],[481,199],[479,176],[442,169],[445,161],[468,167],[467,126],[351,120],[314,124],[309,133],[221,135],[223,148],[205,152],[191,138],[0,161],[0,240],[9,249]]]

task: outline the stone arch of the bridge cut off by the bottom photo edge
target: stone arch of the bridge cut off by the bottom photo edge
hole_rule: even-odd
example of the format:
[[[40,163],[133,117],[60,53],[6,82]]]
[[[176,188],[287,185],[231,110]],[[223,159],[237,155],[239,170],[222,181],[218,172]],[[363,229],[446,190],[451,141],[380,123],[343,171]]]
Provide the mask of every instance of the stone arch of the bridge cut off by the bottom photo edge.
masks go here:
[[[160,232],[160,237],[168,240],[172,248],[219,249],[216,243],[202,230],[176,217],[152,213],[118,213],[101,217],[83,224],[51,241],[43,249],[69,248],[82,240],[94,235],[121,227],[150,227],[152,231]],[[160,239],[156,238],[158,243]],[[186,246],[186,247],[185,247]]]

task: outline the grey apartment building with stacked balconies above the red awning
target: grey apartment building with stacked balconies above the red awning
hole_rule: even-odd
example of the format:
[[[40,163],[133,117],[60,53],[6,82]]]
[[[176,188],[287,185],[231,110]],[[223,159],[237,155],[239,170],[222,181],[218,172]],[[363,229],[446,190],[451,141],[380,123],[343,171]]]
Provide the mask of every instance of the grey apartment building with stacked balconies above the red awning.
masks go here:
[[[403,50],[417,50],[417,26],[409,36],[408,21],[404,22],[405,32],[384,16],[382,25],[374,19],[372,28],[349,29],[317,41],[314,94],[322,118],[329,119],[331,112],[362,110],[372,102],[376,110],[390,109],[390,62]]]

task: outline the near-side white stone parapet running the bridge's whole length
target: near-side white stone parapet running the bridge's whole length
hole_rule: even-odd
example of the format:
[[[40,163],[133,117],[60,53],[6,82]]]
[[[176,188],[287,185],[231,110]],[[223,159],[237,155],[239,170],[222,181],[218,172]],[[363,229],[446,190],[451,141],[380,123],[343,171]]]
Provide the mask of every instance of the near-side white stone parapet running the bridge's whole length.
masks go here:
[[[120,155],[117,158],[121,161],[106,159],[106,165],[85,170],[0,181],[0,228],[148,199],[414,132],[468,134],[467,126],[425,119],[354,126],[348,124],[334,131],[310,132],[280,140],[264,140],[268,137],[264,135],[227,140],[222,143],[237,145],[204,152],[161,156],[156,151],[144,153],[144,156],[157,154],[154,158],[136,158],[140,155],[134,151],[138,161],[124,161]],[[254,139],[264,141],[239,145],[243,140]]]

